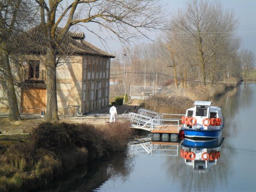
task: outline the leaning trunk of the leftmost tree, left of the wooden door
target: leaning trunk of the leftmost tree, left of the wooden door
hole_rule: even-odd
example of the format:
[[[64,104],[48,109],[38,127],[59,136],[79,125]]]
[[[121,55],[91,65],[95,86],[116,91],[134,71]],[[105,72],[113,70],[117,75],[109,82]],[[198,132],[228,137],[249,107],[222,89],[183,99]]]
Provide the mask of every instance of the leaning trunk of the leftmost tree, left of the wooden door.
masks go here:
[[[4,87],[6,88],[6,92],[8,95],[9,119],[11,121],[17,121],[17,120],[20,120],[21,118],[20,118],[20,113],[18,108],[12,70],[9,62],[9,56],[6,50],[7,50],[6,43],[2,42],[0,47],[0,52],[1,52],[0,65],[1,65],[1,68],[3,69],[4,78],[5,78]]]

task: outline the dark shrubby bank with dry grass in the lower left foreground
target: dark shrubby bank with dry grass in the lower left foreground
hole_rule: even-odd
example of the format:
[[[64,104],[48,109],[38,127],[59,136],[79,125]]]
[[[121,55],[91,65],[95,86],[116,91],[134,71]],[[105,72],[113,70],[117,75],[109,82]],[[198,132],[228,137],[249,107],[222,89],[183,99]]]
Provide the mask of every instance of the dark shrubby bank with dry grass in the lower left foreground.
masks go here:
[[[0,154],[0,191],[29,191],[47,186],[76,166],[124,151],[131,137],[128,122],[99,127],[43,122]]]

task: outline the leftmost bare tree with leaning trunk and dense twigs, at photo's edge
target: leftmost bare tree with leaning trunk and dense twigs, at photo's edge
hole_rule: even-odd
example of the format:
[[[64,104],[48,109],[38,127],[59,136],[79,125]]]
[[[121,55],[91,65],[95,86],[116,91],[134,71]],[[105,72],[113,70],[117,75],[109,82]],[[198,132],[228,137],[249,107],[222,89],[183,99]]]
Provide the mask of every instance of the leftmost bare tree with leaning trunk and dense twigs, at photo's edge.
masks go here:
[[[33,16],[31,5],[30,0],[0,1],[0,72],[4,79],[3,87],[8,95],[10,120],[20,119],[10,56],[17,43],[16,36],[31,24]],[[15,52],[17,54],[18,50],[16,49]]]

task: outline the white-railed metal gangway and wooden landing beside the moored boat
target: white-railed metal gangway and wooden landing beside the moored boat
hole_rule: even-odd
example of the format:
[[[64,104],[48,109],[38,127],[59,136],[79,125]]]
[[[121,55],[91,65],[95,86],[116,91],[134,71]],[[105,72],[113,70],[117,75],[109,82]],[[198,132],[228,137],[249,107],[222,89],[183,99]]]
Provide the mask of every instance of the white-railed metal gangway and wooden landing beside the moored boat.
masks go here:
[[[172,127],[179,131],[180,119],[178,118],[163,118],[163,116],[184,116],[184,114],[169,114],[169,113],[157,113],[146,109],[139,109],[138,113],[129,113],[129,119],[131,121],[132,128],[143,129],[146,131],[152,131],[158,128]]]

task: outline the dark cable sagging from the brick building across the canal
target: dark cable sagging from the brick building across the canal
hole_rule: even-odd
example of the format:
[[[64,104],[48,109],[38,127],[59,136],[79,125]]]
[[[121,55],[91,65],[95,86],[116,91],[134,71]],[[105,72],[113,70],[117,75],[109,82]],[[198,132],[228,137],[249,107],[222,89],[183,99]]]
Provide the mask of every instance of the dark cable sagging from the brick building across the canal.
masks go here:
[[[232,84],[232,85],[242,85],[244,83],[214,83],[214,82],[204,82],[204,81],[198,81],[197,79],[184,79],[184,78],[179,78],[179,77],[174,77],[174,76],[169,76],[163,73],[143,73],[143,72],[126,72],[126,73],[132,73],[132,74],[159,74],[159,75],[163,75],[166,77],[170,77],[172,79],[179,79],[179,80],[185,80],[185,81],[192,81],[192,82],[198,82],[198,83],[208,83],[208,84]],[[117,75],[122,75],[124,73],[118,73],[118,74],[111,74],[111,76],[117,76]],[[252,80],[253,81],[253,80]],[[245,81],[247,82],[247,81]],[[247,83],[247,84],[256,84],[256,83]]]

